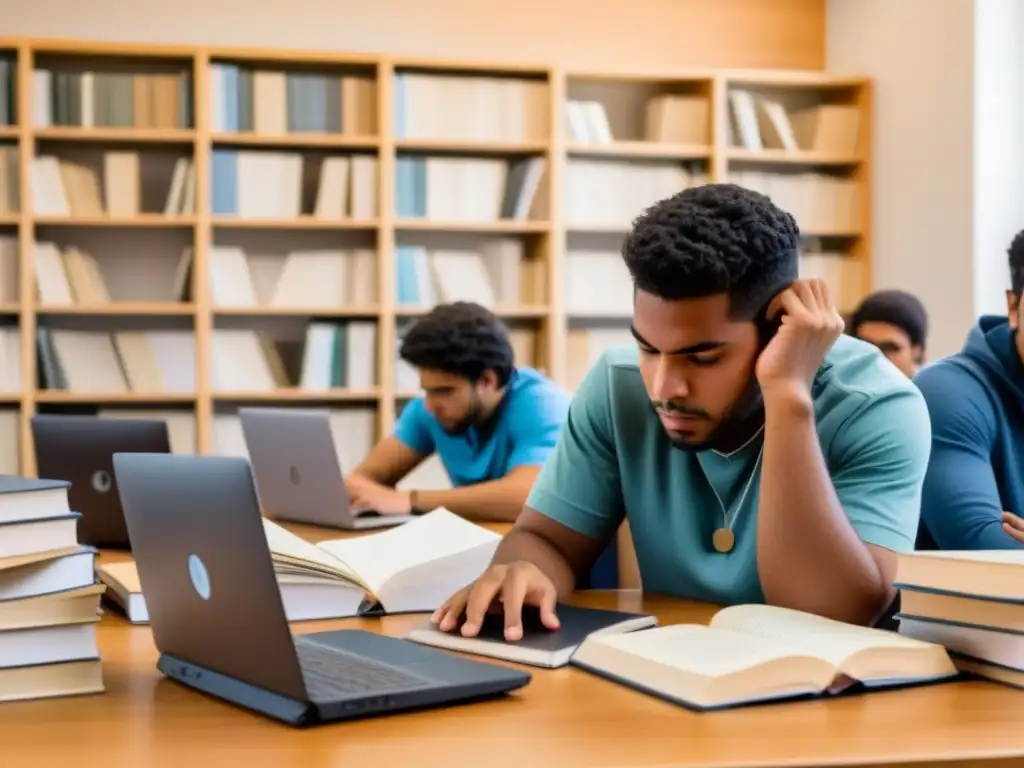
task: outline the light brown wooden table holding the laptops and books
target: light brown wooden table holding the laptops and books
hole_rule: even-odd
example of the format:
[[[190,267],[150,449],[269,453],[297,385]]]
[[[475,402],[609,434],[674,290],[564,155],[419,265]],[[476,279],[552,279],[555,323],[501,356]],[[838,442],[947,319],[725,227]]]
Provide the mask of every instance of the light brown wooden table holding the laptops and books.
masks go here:
[[[714,612],[636,592],[583,593],[578,602],[652,611],[663,624],[707,622]],[[293,628],[402,635],[420,621],[407,615]],[[698,715],[579,670],[535,669],[529,685],[502,699],[299,730],[163,679],[147,627],[108,614],[98,636],[108,692],[0,706],[0,764],[963,766],[1024,758],[1024,692],[980,681]],[[984,765],[995,762],[1002,760]]]

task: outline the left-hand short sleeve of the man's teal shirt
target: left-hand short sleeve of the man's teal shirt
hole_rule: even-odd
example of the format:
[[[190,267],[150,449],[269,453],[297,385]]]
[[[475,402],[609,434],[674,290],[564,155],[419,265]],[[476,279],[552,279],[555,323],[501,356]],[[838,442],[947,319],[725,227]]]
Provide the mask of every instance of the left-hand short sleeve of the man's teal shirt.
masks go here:
[[[526,499],[527,507],[599,541],[614,536],[625,516],[609,395],[602,357],[572,397],[558,443]]]

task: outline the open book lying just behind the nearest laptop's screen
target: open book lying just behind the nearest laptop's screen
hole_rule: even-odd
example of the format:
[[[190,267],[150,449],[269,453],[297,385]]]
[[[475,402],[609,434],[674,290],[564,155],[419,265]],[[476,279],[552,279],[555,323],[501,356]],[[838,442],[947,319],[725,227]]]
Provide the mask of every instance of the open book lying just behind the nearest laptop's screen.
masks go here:
[[[318,544],[266,518],[263,526],[279,578],[350,587],[336,615],[433,611],[486,569],[501,541],[443,508],[379,534]]]

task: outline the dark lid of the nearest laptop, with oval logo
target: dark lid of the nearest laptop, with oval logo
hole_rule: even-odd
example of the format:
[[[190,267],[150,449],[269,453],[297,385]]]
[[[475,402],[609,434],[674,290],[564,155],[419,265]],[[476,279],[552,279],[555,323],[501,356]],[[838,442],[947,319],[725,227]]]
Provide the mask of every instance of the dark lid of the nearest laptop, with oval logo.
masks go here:
[[[307,700],[249,463],[117,454],[114,467],[161,653]]]

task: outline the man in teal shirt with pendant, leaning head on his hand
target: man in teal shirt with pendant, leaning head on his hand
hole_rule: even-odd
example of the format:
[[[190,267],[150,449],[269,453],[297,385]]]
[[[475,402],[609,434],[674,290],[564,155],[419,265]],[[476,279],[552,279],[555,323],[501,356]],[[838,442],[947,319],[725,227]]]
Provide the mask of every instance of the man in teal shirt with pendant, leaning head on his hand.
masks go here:
[[[928,412],[873,346],[842,336],[799,230],[764,196],[686,189],[647,210],[623,253],[635,348],[577,392],[555,453],[488,570],[433,615],[475,635],[496,599],[555,603],[627,518],[643,587],[768,602],[869,625],[913,549]]]

